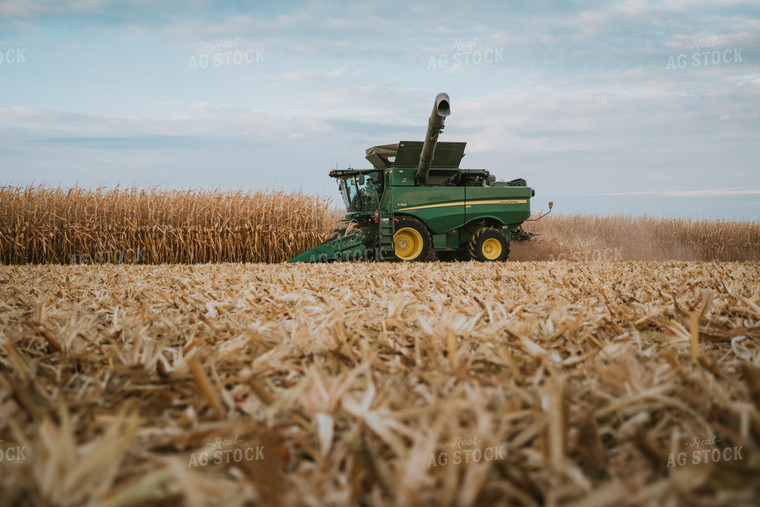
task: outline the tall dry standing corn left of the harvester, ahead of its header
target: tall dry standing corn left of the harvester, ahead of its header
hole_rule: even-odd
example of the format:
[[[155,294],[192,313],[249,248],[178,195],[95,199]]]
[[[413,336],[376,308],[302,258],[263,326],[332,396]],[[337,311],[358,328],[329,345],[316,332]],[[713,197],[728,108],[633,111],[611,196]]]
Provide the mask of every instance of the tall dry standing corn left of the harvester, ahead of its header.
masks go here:
[[[280,262],[334,224],[303,193],[2,187],[0,263]]]

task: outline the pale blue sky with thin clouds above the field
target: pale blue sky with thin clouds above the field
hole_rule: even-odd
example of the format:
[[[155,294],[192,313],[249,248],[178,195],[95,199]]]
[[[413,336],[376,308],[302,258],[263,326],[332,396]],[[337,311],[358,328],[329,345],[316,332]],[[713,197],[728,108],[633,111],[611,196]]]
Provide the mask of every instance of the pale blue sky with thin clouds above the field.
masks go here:
[[[760,220],[757,2],[0,1],[0,184],[276,188],[424,135],[534,209]]]

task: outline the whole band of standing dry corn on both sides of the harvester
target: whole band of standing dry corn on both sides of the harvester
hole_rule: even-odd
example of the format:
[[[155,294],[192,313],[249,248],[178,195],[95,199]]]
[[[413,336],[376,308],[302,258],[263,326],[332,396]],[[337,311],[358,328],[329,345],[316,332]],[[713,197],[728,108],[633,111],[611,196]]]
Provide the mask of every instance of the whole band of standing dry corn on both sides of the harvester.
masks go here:
[[[2,264],[282,262],[327,239],[341,210],[275,191],[0,188]],[[512,260],[760,260],[760,224],[550,215]]]

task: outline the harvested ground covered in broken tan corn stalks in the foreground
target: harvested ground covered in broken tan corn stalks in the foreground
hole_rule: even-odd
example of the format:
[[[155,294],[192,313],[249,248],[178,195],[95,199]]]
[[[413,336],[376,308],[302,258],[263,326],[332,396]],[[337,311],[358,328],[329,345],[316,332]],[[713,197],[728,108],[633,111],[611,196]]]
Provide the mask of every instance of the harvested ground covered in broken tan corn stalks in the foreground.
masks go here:
[[[760,499],[757,263],[3,266],[0,287],[9,504]]]

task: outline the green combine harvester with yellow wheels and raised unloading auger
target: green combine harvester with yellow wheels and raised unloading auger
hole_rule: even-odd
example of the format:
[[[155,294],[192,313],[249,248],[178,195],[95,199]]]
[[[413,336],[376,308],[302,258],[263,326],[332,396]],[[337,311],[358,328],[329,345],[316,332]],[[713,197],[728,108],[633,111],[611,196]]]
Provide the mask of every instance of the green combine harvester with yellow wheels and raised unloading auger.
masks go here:
[[[346,226],[288,262],[503,261],[510,241],[534,236],[522,224],[535,191],[523,179],[460,169],[467,143],[438,142],[449,114],[449,96],[439,93],[424,142],[373,146],[372,169],[330,171],[346,203]]]

